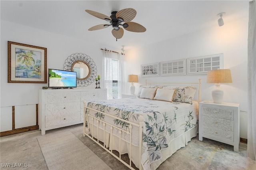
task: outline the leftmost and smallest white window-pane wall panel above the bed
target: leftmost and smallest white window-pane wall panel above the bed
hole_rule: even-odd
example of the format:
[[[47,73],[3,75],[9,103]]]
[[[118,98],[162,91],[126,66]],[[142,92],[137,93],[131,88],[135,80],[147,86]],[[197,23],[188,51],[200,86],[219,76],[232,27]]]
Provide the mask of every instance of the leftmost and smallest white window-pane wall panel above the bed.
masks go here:
[[[159,75],[160,75],[159,74],[159,63],[141,65],[141,77],[159,76]]]

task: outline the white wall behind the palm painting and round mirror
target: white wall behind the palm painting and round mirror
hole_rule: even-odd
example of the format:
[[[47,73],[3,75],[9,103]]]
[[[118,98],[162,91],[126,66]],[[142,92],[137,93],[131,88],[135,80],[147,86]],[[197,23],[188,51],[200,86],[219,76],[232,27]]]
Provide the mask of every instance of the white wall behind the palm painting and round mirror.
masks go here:
[[[77,40],[74,38],[53,34],[43,30],[22,26],[12,22],[1,20],[0,29],[0,116],[1,124],[8,120],[8,125],[1,125],[1,131],[6,129],[11,130],[12,110],[11,106],[17,106],[17,120],[18,116],[20,123],[25,123],[29,117],[35,115],[35,111],[30,111],[30,115],[22,112],[18,114],[18,106],[28,106],[38,104],[38,91],[43,86],[48,86],[47,83],[7,83],[8,79],[8,51],[7,42],[17,42],[29,45],[35,45],[47,48],[47,71],[48,68],[63,69],[64,61],[69,55],[74,53],[85,53],[89,55],[97,66],[97,74],[102,75],[102,50],[105,46],[98,43],[90,42],[88,40]],[[113,49],[114,50],[114,49]],[[47,76],[48,77],[48,76]],[[95,88],[95,83],[87,87],[77,88]],[[35,107],[35,106],[34,106]],[[31,110],[31,109],[30,109]],[[22,111],[22,109],[21,109]],[[10,120],[9,120],[10,119]],[[23,120],[20,120],[23,119]],[[10,124],[10,125],[9,125]],[[18,125],[18,123],[16,123]],[[26,124],[26,123],[25,123]]]

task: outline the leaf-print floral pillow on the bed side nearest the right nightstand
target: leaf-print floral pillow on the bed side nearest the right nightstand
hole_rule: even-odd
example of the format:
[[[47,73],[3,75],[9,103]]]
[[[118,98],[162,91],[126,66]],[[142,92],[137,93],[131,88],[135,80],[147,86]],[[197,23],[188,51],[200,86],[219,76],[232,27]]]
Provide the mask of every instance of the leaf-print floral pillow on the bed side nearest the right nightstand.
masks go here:
[[[169,89],[168,86],[163,87],[163,89]],[[196,93],[196,87],[176,87],[175,94],[172,101],[182,102],[182,103],[190,103],[194,99],[194,95]]]

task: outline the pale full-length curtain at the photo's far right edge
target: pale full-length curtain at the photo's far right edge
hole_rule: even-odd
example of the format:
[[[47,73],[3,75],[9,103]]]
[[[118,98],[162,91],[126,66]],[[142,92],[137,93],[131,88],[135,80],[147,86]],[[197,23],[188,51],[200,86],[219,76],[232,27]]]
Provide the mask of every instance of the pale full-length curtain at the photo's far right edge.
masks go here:
[[[256,2],[249,2],[247,156],[256,157]]]

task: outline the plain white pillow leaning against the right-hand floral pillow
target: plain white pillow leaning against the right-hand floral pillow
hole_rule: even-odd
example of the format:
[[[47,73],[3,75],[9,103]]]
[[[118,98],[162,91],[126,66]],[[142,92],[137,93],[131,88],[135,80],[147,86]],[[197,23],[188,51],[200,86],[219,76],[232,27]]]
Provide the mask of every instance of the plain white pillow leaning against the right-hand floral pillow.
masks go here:
[[[157,89],[154,100],[169,101],[172,102],[175,89]]]

